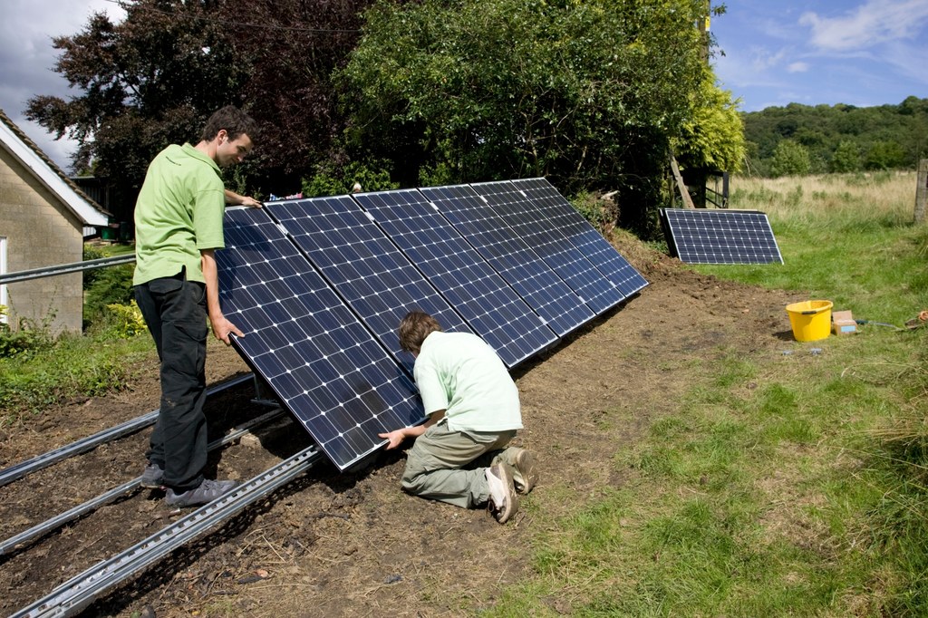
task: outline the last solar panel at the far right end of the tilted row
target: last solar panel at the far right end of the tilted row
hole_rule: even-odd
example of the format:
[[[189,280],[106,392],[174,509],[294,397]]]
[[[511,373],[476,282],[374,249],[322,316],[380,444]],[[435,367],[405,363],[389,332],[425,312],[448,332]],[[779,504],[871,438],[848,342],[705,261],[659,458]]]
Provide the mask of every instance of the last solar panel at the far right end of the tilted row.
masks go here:
[[[596,266],[622,293],[623,300],[644,289],[647,279],[628,264],[621,253],[602,237],[595,227],[567,201],[545,178],[510,181],[532,200],[539,224],[547,223],[566,236],[577,250]]]

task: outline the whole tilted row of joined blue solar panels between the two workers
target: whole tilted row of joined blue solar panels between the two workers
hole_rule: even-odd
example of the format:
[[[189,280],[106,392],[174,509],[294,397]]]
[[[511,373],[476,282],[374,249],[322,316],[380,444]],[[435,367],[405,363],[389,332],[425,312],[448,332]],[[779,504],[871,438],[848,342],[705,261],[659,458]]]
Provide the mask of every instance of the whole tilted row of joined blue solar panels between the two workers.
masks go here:
[[[345,470],[423,420],[406,311],[515,367],[647,285],[572,212],[544,179],[227,209],[220,303],[239,354]]]

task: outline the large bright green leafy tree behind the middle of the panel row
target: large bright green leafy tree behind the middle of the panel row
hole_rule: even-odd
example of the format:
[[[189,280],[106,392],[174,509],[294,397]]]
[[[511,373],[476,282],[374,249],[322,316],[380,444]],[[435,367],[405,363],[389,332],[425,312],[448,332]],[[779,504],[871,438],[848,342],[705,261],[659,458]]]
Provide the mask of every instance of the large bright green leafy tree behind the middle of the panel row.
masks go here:
[[[702,0],[424,0],[367,11],[342,71],[349,147],[414,185],[546,175],[648,220],[705,78]]]

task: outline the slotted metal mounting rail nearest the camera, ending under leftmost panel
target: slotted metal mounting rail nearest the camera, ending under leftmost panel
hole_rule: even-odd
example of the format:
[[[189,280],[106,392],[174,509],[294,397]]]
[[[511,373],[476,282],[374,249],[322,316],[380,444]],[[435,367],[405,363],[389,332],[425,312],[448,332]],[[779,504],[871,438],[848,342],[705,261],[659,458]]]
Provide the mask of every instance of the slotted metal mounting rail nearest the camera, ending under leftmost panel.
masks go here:
[[[84,573],[58,586],[44,599],[39,599],[10,618],[37,618],[39,616],[73,616],[110,588],[117,586],[133,574],[145,569],[177,547],[193,540],[216,524],[225,521],[252,502],[271,494],[278,487],[290,483],[304,471],[312,468],[321,458],[316,445],[265,470],[246,483],[239,485],[226,496],[201,507],[152,534],[141,543],[129,547],[110,560],[97,563]]]

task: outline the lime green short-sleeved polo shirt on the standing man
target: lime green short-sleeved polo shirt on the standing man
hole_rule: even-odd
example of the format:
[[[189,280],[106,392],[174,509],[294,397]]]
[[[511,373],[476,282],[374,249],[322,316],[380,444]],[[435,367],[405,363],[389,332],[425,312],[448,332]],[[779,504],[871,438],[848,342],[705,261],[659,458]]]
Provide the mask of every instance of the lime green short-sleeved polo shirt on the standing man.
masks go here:
[[[219,167],[189,144],[164,148],[148,165],[135,202],[133,284],[174,277],[203,280],[200,250],[222,249],[226,209]]]

